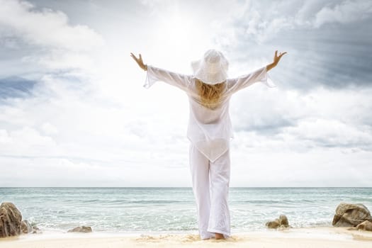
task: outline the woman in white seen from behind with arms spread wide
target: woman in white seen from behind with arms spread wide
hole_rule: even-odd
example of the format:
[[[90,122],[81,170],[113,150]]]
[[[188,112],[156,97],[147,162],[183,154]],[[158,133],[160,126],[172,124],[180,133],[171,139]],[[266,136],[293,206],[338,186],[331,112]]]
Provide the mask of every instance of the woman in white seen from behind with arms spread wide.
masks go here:
[[[177,74],[144,64],[142,56],[131,57],[147,72],[145,87],[164,81],[184,90],[190,103],[187,137],[193,193],[198,210],[201,239],[230,236],[227,196],[230,182],[230,138],[232,125],[229,101],[232,94],[255,82],[275,86],[267,72],[276,67],[286,52],[275,52],[274,62],[235,79],[227,79],[229,63],[217,50],[208,50],[191,63],[193,75]]]

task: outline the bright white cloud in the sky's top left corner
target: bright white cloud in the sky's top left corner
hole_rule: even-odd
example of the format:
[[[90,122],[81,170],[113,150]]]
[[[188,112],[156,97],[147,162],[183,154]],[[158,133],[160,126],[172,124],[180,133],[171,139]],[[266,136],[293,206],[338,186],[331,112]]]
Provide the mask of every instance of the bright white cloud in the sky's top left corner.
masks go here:
[[[70,26],[61,11],[38,11],[28,1],[0,1],[0,30],[32,45],[66,50],[90,50],[100,46],[100,35],[84,25]]]

